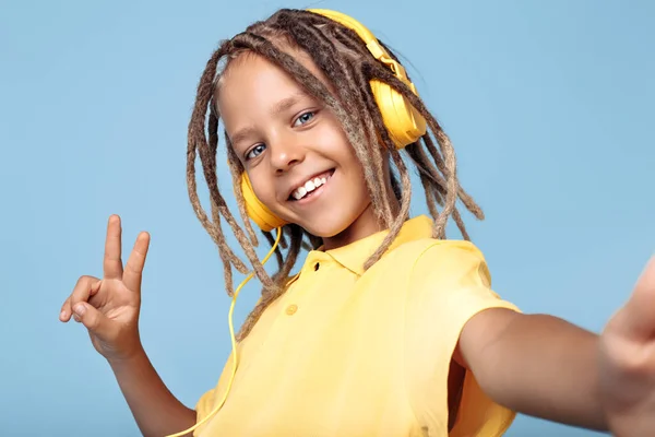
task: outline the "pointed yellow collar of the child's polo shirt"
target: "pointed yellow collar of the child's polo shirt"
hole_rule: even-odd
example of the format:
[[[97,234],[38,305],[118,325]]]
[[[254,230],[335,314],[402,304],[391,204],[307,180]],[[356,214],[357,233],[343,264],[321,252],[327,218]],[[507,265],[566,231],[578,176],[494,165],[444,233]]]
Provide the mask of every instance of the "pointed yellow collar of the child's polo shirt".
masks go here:
[[[350,270],[353,273],[357,275],[362,275],[364,263],[371,255],[374,253],[378,247],[380,247],[380,244],[388,234],[389,229],[381,231],[379,233],[369,235],[368,237],[361,238],[357,241],[350,243],[349,245],[340,247],[337,249],[327,250],[324,253],[329,255],[336,262]],[[431,237],[432,220],[427,215],[419,215],[417,217],[406,221],[403,224],[401,232],[391,243],[389,249],[386,249],[386,252],[395,249],[396,247],[405,243]]]

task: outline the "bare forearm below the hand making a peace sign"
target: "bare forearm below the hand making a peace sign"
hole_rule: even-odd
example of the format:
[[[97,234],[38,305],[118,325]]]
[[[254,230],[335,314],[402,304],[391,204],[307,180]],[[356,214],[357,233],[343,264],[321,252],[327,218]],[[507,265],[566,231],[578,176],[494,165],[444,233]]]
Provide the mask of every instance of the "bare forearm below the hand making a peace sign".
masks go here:
[[[109,364],[144,436],[162,437],[193,426],[195,411],[172,395],[145,352]]]

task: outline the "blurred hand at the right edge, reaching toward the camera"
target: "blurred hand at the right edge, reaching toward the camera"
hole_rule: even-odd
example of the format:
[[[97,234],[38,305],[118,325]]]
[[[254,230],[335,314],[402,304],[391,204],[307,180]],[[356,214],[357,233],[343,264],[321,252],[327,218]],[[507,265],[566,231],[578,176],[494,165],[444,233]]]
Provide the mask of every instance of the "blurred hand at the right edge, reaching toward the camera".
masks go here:
[[[600,389],[610,430],[655,432],[655,258],[600,335]]]

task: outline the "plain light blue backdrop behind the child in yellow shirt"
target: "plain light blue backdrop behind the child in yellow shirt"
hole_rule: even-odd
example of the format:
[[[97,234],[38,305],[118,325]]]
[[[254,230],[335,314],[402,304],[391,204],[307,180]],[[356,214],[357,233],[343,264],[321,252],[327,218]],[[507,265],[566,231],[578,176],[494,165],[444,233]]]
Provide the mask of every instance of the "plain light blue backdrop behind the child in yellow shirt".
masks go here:
[[[400,51],[487,214],[466,218],[495,290],[599,331],[655,247],[654,4],[0,1],[0,434],[139,435],[84,328],[58,321],[78,277],[102,273],[111,213],[126,259],[152,234],[141,330],[157,370],[190,406],[215,385],[229,299],[188,200],[187,123],[218,42],[281,7],[349,13]],[[523,416],[508,433],[553,435],[593,433]]]

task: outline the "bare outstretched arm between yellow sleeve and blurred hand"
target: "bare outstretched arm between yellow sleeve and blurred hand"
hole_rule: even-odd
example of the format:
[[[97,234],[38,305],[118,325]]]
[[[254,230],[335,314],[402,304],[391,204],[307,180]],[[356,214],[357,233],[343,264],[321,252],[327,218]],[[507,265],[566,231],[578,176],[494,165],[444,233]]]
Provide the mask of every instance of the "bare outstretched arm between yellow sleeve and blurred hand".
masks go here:
[[[516,315],[485,347],[488,394],[517,412],[606,429],[598,395],[597,335],[551,316]],[[489,363],[489,364],[491,364]]]

